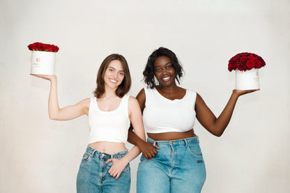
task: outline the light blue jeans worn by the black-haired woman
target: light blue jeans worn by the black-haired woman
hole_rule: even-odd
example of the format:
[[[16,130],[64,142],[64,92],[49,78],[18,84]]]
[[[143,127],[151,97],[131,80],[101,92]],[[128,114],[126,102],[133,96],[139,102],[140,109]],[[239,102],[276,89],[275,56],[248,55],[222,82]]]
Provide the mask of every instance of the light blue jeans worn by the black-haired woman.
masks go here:
[[[148,142],[160,147],[151,160],[141,157],[137,171],[137,193],[201,192],[206,167],[198,137]]]

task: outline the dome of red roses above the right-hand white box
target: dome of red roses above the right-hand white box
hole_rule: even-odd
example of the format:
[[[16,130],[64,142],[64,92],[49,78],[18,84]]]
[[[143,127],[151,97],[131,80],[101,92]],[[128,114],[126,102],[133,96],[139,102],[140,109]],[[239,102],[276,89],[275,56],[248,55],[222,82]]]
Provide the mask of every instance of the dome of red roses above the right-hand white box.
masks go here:
[[[251,70],[252,68],[262,68],[265,66],[266,63],[264,59],[262,59],[260,56],[252,53],[243,52],[240,54],[236,54],[236,56],[232,57],[229,60],[228,69],[229,72],[232,70]]]

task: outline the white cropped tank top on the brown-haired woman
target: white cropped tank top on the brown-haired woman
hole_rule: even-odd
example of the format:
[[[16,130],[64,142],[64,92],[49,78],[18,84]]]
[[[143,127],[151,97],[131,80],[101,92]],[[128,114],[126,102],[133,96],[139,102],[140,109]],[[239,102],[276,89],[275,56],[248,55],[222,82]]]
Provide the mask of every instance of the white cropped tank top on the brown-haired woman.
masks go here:
[[[128,116],[128,99],[124,95],[119,107],[114,111],[101,111],[96,97],[91,98],[89,107],[89,144],[97,141],[123,142],[128,138],[130,120]]]

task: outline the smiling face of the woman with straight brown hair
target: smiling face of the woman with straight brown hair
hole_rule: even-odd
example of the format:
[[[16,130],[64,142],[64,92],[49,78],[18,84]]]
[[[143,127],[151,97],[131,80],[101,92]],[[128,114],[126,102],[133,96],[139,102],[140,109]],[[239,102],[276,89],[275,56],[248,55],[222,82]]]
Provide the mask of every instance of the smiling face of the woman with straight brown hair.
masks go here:
[[[105,86],[118,88],[124,79],[124,70],[121,61],[111,61],[104,75]]]

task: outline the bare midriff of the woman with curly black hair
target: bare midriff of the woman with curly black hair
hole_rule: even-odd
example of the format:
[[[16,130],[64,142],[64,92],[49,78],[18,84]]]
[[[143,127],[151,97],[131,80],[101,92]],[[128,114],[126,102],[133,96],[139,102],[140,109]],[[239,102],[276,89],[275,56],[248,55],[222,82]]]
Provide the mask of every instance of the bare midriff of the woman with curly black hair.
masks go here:
[[[147,133],[148,137],[155,141],[171,141],[178,139],[185,139],[190,137],[196,137],[193,129],[187,132],[162,132],[162,133]]]

